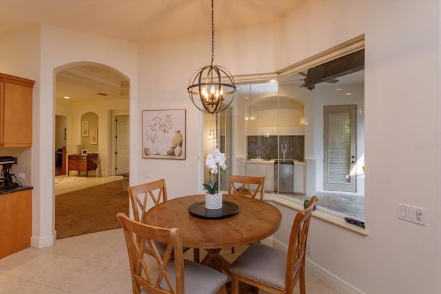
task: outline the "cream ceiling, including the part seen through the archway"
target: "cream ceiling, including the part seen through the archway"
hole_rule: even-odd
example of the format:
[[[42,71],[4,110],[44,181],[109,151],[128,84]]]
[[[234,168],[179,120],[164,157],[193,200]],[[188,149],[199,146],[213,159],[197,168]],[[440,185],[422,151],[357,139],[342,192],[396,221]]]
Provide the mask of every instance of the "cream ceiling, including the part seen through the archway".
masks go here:
[[[215,0],[216,30],[274,23],[305,0]],[[211,32],[210,0],[0,0],[0,32],[45,24],[134,42]],[[57,99],[128,98],[128,83],[99,67],[57,74]],[[102,96],[101,94],[107,94]]]

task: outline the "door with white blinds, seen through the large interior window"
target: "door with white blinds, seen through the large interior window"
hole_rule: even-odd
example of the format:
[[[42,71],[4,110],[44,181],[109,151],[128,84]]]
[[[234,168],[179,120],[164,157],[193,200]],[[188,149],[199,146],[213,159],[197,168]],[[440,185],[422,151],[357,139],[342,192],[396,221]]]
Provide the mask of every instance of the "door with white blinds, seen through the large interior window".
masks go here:
[[[331,191],[356,191],[356,105],[324,107],[324,182]]]

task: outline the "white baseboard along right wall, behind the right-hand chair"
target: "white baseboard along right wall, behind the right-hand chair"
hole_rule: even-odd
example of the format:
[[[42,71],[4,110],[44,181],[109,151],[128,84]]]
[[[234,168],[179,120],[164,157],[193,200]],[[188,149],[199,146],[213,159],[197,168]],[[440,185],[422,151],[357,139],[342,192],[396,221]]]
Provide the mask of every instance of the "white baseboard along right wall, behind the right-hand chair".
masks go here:
[[[265,240],[269,239],[270,238]],[[272,242],[273,244],[266,244],[269,246],[274,246],[274,248],[285,252],[288,251],[288,246],[286,244],[283,244],[282,242],[279,242],[274,238],[272,238]],[[316,264],[312,260],[309,260],[309,258],[307,258],[305,261],[305,267],[307,273],[314,275],[314,277],[318,278],[318,280],[324,282],[340,294],[366,294],[365,292],[356,288],[356,286],[349,284],[345,280],[342,280],[340,277],[334,275],[334,273],[331,273],[330,271],[324,269],[322,266]]]

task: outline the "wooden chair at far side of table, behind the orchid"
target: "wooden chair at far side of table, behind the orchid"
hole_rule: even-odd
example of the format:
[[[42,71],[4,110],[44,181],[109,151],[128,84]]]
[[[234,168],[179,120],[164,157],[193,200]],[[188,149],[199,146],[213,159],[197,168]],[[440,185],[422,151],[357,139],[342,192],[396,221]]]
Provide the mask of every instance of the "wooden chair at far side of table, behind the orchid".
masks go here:
[[[229,195],[239,195],[263,200],[265,192],[265,177],[260,176],[228,176]],[[234,254],[234,247],[232,247]]]

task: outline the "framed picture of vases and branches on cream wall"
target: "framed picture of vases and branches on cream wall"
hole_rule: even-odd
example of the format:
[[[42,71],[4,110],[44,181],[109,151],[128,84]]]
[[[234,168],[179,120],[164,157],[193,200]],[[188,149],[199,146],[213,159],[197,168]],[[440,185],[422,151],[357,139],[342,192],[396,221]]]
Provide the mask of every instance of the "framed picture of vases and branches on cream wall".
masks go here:
[[[185,159],[185,109],[143,110],[143,158]]]

